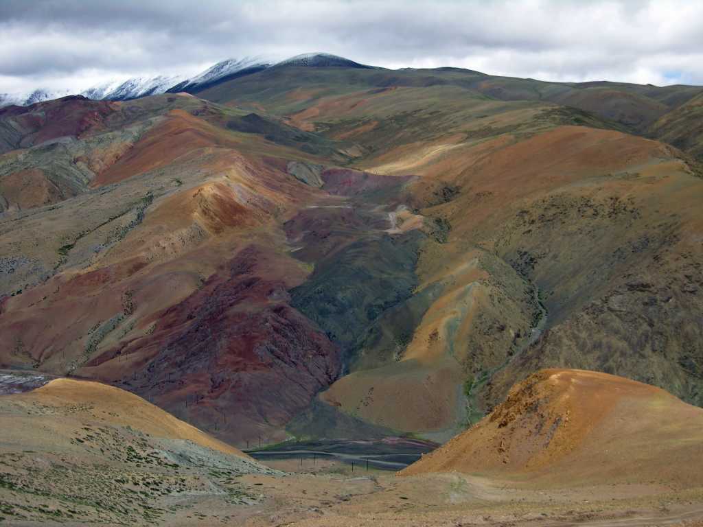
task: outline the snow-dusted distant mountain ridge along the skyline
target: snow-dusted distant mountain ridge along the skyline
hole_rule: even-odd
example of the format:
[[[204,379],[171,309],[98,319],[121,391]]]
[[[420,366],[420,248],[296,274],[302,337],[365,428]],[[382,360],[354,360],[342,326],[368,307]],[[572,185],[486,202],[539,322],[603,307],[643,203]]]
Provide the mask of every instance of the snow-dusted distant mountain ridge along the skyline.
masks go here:
[[[35,89],[30,93],[0,93],[0,108],[8,105],[29,106],[44,100],[56,99],[68,95],[82,95],[93,100],[131,100],[160,93],[198,93],[215,84],[226,82],[236,77],[243,77],[273,66],[304,67],[359,67],[371,68],[347,58],[330,55],[330,53],[304,53],[278,63],[257,58],[228,58],[207,68],[193,77],[178,75],[157,75],[156,77],[132,77],[126,81],[110,81],[91,86],[83,91],[56,90],[51,88]]]

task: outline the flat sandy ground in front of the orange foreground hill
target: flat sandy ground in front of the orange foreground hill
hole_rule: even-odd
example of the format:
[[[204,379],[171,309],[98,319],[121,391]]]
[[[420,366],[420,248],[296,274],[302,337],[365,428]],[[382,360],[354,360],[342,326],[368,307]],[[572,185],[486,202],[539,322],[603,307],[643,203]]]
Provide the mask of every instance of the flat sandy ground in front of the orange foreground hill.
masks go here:
[[[277,462],[276,468],[299,468],[295,462],[284,465]],[[337,470],[340,467],[330,466],[315,474],[243,476],[245,486],[250,491],[259,488],[266,499],[259,505],[240,507],[225,523],[251,527],[420,527],[636,526],[703,521],[701,489],[677,493],[661,486],[619,485],[537,491],[463,474],[399,478],[389,473],[352,476]],[[187,520],[174,518],[173,524],[187,525]]]

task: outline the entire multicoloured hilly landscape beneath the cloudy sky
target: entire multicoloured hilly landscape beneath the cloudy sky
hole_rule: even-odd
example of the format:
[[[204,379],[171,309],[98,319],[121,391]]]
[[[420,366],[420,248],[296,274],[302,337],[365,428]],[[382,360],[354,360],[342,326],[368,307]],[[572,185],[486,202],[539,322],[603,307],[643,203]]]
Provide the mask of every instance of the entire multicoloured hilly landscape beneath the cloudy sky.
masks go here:
[[[4,520],[702,520],[703,89],[231,68],[0,108]]]

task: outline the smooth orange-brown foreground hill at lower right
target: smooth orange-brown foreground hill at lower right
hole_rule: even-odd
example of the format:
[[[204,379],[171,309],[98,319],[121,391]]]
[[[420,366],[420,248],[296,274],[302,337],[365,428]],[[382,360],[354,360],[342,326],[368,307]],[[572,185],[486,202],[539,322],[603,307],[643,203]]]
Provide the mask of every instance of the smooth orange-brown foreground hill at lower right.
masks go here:
[[[529,482],[703,484],[703,410],[662,389],[586,370],[542,370],[481,422],[401,472]]]

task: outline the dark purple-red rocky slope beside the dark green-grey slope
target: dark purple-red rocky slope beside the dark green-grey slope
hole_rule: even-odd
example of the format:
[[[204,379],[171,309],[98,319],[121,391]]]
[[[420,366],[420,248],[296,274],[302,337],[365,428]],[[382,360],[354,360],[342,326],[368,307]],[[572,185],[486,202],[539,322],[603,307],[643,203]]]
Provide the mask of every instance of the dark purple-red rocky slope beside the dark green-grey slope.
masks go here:
[[[232,443],[282,440],[285,424],[341,365],[336,346],[290,307],[283,282],[259,275],[270,258],[243,249],[169,308],[152,334],[89,363],[91,374]],[[112,372],[126,378],[110,379]]]

